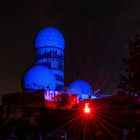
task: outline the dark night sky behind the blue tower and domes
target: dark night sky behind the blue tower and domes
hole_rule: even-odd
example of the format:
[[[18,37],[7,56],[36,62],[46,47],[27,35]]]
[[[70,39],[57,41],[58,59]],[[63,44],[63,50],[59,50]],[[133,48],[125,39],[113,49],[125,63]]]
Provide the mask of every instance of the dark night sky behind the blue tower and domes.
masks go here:
[[[121,58],[140,33],[139,0],[5,0],[0,2],[0,94],[22,91],[34,64],[34,38],[45,26],[66,41],[65,84],[83,79],[102,93],[116,93]]]

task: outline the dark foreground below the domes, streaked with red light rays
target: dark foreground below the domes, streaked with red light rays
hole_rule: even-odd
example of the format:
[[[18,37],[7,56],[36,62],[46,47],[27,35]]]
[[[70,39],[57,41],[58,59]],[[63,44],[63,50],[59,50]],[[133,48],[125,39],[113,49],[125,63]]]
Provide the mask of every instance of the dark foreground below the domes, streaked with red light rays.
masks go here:
[[[93,110],[1,106],[0,140],[140,140],[140,104],[133,97],[92,101]]]

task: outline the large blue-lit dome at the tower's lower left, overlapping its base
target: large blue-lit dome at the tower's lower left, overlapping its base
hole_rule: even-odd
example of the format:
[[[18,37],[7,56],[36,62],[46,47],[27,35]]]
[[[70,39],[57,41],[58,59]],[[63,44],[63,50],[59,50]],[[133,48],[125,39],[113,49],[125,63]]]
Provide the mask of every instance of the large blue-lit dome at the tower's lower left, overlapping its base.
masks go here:
[[[23,76],[25,91],[36,91],[44,88],[56,89],[56,80],[52,72],[44,66],[33,66]]]

